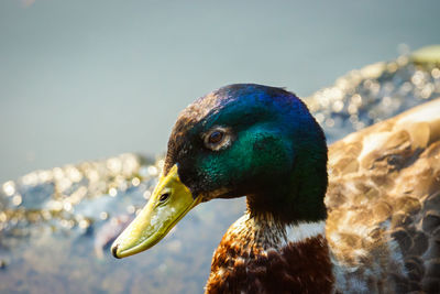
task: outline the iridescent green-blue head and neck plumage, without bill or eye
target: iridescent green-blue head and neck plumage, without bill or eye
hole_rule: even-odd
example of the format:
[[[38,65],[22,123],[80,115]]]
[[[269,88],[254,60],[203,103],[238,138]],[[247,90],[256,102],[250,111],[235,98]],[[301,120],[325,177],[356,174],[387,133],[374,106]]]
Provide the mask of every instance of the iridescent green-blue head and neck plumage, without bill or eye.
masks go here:
[[[238,142],[219,152],[207,149],[201,137],[216,126],[230,128]],[[212,193],[246,195],[252,213],[272,209],[286,222],[326,216],[323,132],[302,101],[284,89],[231,85],[198,99],[173,129],[164,174],[176,163],[183,183],[205,200]]]

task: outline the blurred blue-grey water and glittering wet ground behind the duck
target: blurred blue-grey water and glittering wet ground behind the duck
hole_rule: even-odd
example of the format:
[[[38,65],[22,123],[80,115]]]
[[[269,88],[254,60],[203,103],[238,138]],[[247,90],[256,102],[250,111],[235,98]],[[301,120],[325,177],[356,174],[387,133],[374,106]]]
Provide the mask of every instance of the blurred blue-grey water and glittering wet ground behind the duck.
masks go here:
[[[440,96],[439,64],[409,54],[440,43],[439,9],[3,0],[0,292],[201,293],[243,199],[197,207],[146,253],[108,252],[151,195],[177,112],[230,83],[284,86],[332,142]]]

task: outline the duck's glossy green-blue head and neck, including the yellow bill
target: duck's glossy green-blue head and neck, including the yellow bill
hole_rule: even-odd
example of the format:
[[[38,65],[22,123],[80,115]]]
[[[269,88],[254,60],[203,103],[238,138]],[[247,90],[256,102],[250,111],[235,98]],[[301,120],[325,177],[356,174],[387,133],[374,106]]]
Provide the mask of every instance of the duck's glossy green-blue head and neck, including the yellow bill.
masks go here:
[[[252,216],[326,218],[327,144],[304,102],[282,88],[230,85],[189,105],[168,141],[160,182],[112,246],[116,258],[157,243],[196,205],[248,197]]]

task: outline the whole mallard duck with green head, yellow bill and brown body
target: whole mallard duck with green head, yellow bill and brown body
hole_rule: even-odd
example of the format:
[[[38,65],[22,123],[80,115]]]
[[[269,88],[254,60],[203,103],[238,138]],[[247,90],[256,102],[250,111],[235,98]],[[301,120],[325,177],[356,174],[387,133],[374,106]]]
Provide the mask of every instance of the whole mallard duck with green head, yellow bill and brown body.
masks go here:
[[[439,293],[440,99],[328,146],[295,94],[217,89],[178,116],[160,181],[111,252],[147,250],[194,207],[237,197],[246,210],[206,293]]]

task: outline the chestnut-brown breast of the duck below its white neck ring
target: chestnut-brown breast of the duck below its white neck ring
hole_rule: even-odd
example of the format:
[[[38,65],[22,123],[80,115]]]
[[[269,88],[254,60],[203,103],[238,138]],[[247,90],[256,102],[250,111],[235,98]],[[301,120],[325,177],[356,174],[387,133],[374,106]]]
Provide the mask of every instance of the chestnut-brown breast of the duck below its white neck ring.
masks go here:
[[[334,281],[323,235],[293,243],[276,222],[242,220],[217,248],[206,293],[331,293]]]

